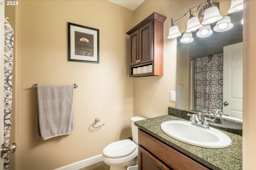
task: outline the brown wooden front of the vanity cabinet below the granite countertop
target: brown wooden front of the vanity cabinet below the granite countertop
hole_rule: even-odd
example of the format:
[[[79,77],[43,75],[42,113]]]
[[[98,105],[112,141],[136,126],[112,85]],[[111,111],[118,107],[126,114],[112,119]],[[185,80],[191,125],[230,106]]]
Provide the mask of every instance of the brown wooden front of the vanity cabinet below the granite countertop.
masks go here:
[[[138,139],[138,170],[208,170],[140,129]]]

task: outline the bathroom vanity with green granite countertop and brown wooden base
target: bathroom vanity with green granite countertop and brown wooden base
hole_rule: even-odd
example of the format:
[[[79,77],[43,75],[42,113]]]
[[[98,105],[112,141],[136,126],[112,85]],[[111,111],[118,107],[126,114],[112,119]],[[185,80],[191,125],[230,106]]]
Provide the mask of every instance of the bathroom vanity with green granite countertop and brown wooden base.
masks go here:
[[[230,147],[196,147],[173,139],[161,130],[161,124],[170,120],[187,121],[172,115],[164,115],[135,122],[139,127],[139,170],[242,169],[242,136],[222,131],[232,140]]]

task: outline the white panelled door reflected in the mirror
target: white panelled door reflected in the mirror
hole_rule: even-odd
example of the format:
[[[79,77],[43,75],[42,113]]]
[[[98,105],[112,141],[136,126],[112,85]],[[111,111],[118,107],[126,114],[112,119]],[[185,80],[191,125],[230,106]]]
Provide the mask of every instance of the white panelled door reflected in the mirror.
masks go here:
[[[243,118],[243,43],[224,47],[223,113]]]

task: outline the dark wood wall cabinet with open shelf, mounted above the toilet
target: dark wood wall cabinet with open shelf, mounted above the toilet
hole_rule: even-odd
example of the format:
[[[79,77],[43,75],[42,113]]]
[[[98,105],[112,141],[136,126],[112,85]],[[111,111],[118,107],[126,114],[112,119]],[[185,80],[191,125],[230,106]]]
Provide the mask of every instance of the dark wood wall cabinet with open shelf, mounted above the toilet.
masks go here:
[[[126,33],[130,36],[130,77],[163,75],[165,20],[154,12]]]

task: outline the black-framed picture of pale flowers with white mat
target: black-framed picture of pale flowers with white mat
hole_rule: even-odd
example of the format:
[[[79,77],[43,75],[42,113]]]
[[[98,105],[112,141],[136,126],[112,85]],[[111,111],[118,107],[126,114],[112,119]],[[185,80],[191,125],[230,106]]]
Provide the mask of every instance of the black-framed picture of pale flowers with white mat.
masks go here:
[[[68,61],[99,63],[99,29],[68,22]]]

